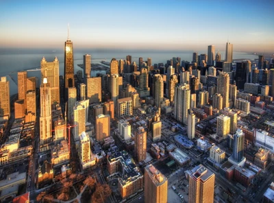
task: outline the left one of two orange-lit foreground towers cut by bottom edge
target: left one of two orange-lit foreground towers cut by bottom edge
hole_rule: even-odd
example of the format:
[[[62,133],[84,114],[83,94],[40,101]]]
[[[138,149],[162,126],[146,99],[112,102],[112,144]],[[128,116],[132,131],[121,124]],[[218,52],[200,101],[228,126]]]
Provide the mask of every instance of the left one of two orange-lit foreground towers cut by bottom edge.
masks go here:
[[[166,203],[168,180],[153,165],[145,167],[145,202]]]

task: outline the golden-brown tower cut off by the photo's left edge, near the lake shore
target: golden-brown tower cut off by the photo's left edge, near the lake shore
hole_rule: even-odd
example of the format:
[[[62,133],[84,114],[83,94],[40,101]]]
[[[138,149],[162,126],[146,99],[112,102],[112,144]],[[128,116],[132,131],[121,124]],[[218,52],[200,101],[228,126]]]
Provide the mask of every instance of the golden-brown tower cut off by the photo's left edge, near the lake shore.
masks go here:
[[[10,82],[7,77],[0,80],[0,117],[10,118]]]

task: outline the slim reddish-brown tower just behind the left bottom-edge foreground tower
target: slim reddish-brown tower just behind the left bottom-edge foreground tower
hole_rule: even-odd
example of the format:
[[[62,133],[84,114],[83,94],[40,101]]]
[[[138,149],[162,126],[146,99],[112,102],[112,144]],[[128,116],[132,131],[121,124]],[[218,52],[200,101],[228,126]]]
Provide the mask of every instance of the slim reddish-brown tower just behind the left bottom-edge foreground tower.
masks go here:
[[[138,163],[147,158],[147,132],[143,127],[134,131],[134,155]]]

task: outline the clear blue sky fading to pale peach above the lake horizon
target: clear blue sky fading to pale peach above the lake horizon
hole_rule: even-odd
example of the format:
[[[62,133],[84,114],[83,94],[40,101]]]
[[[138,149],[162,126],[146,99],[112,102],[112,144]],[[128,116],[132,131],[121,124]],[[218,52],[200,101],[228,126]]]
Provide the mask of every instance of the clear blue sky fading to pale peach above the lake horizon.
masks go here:
[[[0,1],[1,47],[274,51],[273,0]]]

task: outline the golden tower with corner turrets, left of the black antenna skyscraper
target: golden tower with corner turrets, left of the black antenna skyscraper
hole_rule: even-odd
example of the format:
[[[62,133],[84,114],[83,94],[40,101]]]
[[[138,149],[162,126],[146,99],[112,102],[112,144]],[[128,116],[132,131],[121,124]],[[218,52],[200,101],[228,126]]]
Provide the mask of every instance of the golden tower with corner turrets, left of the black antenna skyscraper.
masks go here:
[[[47,82],[51,90],[51,105],[60,104],[60,85],[59,85],[59,61],[55,57],[53,62],[47,62],[45,57],[41,60],[41,78],[47,77]]]

